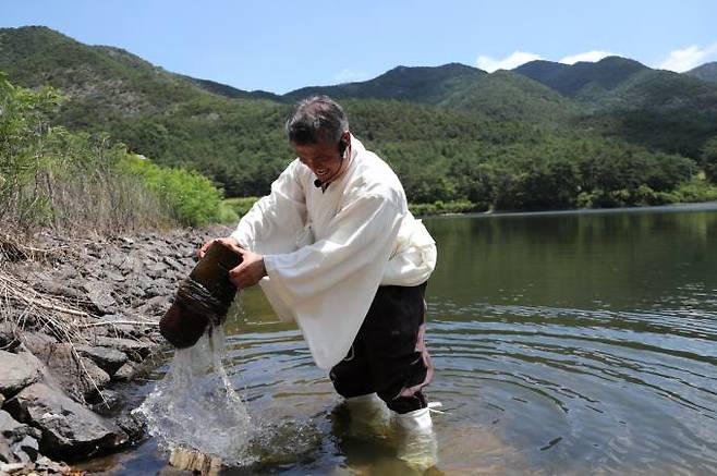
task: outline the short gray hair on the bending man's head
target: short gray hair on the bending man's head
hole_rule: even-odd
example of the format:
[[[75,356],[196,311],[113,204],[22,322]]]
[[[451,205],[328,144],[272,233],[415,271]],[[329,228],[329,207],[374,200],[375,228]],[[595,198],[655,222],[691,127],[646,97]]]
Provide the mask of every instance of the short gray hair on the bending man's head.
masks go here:
[[[285,125],[295,144],[337,143],[349,131],[343,108],[328,96],[312,96],[299,102]]]

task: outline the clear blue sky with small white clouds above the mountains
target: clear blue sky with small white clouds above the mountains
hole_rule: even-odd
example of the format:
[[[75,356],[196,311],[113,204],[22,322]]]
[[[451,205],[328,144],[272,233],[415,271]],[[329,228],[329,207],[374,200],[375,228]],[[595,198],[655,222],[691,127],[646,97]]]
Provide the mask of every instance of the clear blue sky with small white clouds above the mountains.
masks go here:
[[[0,27],[33,24],[274,93],[363,81],[399,64],[493,71],[611,53],[681,72],[717,61],[714,0],[0,0]]]

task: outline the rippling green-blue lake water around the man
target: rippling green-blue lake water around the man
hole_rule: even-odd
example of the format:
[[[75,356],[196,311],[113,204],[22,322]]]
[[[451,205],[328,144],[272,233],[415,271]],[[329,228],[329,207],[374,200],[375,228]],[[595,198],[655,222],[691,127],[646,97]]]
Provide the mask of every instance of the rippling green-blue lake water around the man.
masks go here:
[[[434,474],[717,473],[717,204],[425,223]],[[227,474],[410,472],[390,434],[349,430],[296,328],[241,301],[226,365],[264,430]],[[149,440],[110,473],[165,457]]]

